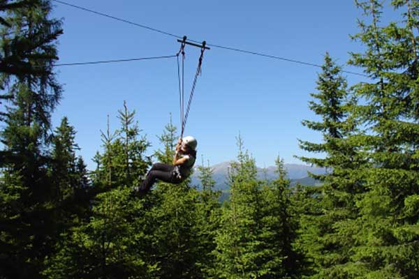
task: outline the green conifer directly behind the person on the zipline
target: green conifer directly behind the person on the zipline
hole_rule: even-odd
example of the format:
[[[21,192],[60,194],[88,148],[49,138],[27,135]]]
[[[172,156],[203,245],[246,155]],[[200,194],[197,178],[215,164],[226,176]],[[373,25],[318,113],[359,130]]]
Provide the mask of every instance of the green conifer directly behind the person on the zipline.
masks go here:
[[[177,128],[170,122],[159,137],[163,149],[156,151],[161,163],[172,164],[177,142]],[[152,254],[156,255],[159,278],[200,278],[196,261],[198,232],[196,204],[198,193],[189,185],[191,179],[179,184],[156,183],[146,199],[153,204],[147,211],[150,226],[154,223],[148,241],[157,243]]]

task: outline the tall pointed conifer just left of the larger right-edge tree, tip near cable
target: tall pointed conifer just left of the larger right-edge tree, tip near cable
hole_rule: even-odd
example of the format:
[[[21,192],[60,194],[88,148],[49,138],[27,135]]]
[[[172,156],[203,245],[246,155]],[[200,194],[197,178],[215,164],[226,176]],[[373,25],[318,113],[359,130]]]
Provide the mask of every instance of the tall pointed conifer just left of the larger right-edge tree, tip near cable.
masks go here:
[[[349,114],[354,104],[349,99],[346,80],[341,68],[326,53],[322,72],[318,75],[318,93],[311,93],[309,107],[321,121],[302,121],[304,126],[321,132],[323,142],[312,143],[300,140],[300,147],[312,153],[325,153],[325,158],[300,157],[306,163],[326,167],[324,175],[313,175],[323,181],[320,211],[314,216],[303,218],[306,227],[302,241],[307,255],[314,263],[313,278],[347,278],[351,269],[351,245],[353,244],[350,220],[358,217],[355,209],[355,195],[362,192],[362,186],[354,179],[362,168],[362,156],[353,145],[355,120]],[[352,177],[352,178],[351,178]],[[319,195],[316,194],[316,195]],[[319,212],[322,212],[319,214]]]

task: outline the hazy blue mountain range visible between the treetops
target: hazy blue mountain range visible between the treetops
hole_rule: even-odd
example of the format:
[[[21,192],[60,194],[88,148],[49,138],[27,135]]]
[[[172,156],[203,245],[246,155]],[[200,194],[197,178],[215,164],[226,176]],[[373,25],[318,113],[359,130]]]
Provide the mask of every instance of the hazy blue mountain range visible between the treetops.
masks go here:
[[[230,162],[223,162],[212,166],[214,170],[212,178],[215,180],[215,189],[216,190],[228,190],[227,185],[227,176],[228,169],[230,168]],[[284,165],[287,173],[288,179],[291,180],[291,185],[296,183],[304,185],[316,185],[318,181],[309,177],[308,172],[314,174],[325,174],[325,169],[321,167],[310,167],[307,165],[297,165],[297,164],[285,164]],[[192,175],[193,185],[200,186],[200,181],[198,179],[199,170],[198,167],[194,168]],[[273,180],[277,178],[276,167],[266,167],[265,169],[258,167],[258,178]]]

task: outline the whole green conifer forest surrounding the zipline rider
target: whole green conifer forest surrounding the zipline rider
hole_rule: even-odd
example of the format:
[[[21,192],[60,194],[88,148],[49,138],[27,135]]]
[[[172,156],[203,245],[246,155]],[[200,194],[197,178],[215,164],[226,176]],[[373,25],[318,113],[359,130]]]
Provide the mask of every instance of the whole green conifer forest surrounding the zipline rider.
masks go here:
[[[1,0],[0,279],[418,279],[419,1],[388,3],[395,22],[381,1],[353,3],[363,48],[345,63],[368,81],[350,84],[325,52],[307,92],[317,117],[301,125],[322,140],[299,140],[299,159],[327,170],[311,174],[321,183],[291,186],[279,157],[260,179],[238,135],[220,199],[201,158],[199,185],[133,195],[153,162],[172,163],[181,128],[168,114],[152,149],[124,100],[88,169],[78,128],[52,126],[63,22],[51,0]]]

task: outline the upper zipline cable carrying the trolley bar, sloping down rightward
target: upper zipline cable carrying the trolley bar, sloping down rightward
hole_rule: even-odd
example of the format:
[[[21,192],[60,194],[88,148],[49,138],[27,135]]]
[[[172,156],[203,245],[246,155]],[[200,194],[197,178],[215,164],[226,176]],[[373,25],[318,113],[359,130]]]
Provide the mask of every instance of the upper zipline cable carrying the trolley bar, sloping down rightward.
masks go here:
[[[120,17],[115,17],[115,16],[108,15],[108,14],[105,14],[105,13],[96,12],[95,10],[90,10],[88,8],[84,8],[84,7],[81,7],[81,6],[73,5],[71,3],[67,3],[67,2],[64,2],[64,1],[60,1],[60,0],[52,0],[52,1],[57,2],[57,3],[61,3],[61,4],[66,5],[66,6],[71,6],[73,8],[78,8],[80,10],[84,10],[84,11],[87,11],[89,13],[94,13],[96,15],[101,15],[103,17],[108,17],[108,18],[111,18],[112,20],[117,20],[119,22],[125,22],[127,24],[131,24],[131,25],[134,25],[136,27],[141,27],[141,28],[144,28],[144,29],[148,29],[150,31],[162,33],[162,34],[167,35],[167,36],[172,36],[172,37],[175,37],[175,38],[182,39],[181,36],[177,36],[176,34],[169,33],[169,32],[166,32],[166,31],[162,31],[160,29],[156,29],[156,28],[153,28],[153,27],[148,27],[148,26],[143,25],[143,24],[138,24],[138,23],[135,23],[135,22],[131,22],[129,20],[124,20],[124,19],[122,19]],[[198,40],[190,40],[190,41],[191,42],[194,42],[194,43],[200,43],[200,42],[198,42]],[[281,57],[281,56],[274,56],[274,55],[270,55],[270,54],[263,54],[263,53],[260,53],[260,52],[252,52],[252,51],[249,51],[249,50],[242,50],[240,48],[228,47],[228,46],[224,46],[224,45],[213,45],[213,44],[207,44],[207,45],[210,46],[210,47],[219,48],[221,50],[230,50],[230,51],[233,51],[233,52],[241,52],[241,53],[244,53],[244,54],[251,54],[251,55],[262,56],[262,57],[270,58],[270,59],[287,61],[287,62],[291,62],[291,63],[298,63],[300,65],[305,65],[305,66],[312,66],[312,67],[322,68],[321,65],[318,65],[318,64],[315,64],[315,63],[309,63],[309,62],[299,61],[299,60],[296,60],[296,59],[289,59],[289,58]],[[365,74],[362,74],[362,73],[351,72],[349,70],[341,70],[341,72],[342,73],[348,73],[348,74],[351,74],[351,75],[359,75],[361,77],[368,77],[368,75],[365,75]]]

